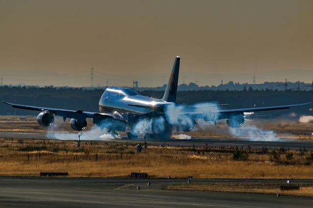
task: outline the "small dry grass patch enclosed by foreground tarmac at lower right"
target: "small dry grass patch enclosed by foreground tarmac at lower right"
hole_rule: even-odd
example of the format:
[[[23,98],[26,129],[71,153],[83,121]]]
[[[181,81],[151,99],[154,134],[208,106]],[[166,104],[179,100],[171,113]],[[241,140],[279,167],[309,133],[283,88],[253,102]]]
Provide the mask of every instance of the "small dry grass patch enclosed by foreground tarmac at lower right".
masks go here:
[[[248,193],[266,193],[293,196],[313,197],[313,185],[301,184],[300,190],[281,191],[282,184],[272,183],[191,183],[176,184],[165,187],[168,190],[197,190],[197,191],[227,191],[227,192],[248,192]]]

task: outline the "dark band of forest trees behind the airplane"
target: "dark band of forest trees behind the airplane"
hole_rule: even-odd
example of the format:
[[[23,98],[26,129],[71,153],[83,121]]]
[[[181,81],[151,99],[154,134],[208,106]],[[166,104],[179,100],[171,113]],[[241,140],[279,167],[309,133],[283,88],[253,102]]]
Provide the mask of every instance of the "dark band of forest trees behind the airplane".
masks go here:
[[[224,84],[226,85],[226,84]],[[235,84],[236,85],[236,84]],[[84,89],[69,87],[26,87],[26,86],[2,86],[0,87],[0,98],[3,101],[15,102],[37,106],[52,106],[63,109],[88,110],[97,112],[98,102],[104,89]],[[164,91],[144,90],[139,91],[141,95],[162,98]],[[248,90],[188,90],[178,91],[177,103],[195,104],[204,102],[218,102],[229,104],[227,108],[242,108],[296,104],[311,102],[311,91],[275,91],[255,90],[248,87]],[[272,116],[288,115],[295,111],[297,114],[309,114],[309,107],[297,107],[291,110],[271,111]],[[16,109],[2,104],[0,114],[2,115],[33,115],[32,111]]]

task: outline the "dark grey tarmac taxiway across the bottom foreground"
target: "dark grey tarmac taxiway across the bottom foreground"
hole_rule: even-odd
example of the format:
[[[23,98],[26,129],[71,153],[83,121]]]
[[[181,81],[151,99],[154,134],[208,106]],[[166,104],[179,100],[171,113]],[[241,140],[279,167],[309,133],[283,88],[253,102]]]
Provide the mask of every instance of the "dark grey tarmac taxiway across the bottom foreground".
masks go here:
[[[193,180],[194,182],[263,182],[284,183],[283,180]],[[151,182],[150,187],[146,184]],[[313,198],[267,194],[171,191],[162,187],[186,183],[182,179],[102,179],[102,178],[40,178],[0,177],[0,207],[27,208],[299,208],[312,207]],[[313,183],[313,180],[294,180]],[[137,190],[137,186],[141,190]]]

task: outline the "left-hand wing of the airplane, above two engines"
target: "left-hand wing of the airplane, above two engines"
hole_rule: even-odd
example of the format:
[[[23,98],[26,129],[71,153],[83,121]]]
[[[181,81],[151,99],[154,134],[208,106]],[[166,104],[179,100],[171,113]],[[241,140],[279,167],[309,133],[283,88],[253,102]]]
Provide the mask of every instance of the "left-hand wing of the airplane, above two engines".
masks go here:
[[[97,121],[106,119],[106,118],[123,120],[122,117],[114,113],[87,112],[83,110],[66,110],[66,109],[59,109],[59,108],[48,108],[48,107],[39,107],[39,106],[31,106],[31,105],[23,105],[23,104],[11,104],[11,103],[7,103],[4,101],[2,102],[4,104],[12,105],[12,107],[15,107],[15,108],[21,108],[21,109],[26,109],[26,110],[36,110],[36,111],[49,111],[50,113],[53,113],[56,116],[78,119],[81,121],[84,121],[86,118],[93,118],[94,123],[96,123]]]

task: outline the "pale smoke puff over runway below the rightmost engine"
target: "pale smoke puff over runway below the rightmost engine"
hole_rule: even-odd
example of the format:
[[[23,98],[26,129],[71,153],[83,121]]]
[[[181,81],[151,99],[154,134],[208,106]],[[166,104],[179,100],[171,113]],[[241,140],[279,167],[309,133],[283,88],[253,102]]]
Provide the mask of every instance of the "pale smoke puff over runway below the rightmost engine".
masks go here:
[[[244,124],[240,128],[229,127],[229,132],[236,137],[244,137],[250,141],[280,141],[273,131],[250,124]]]

